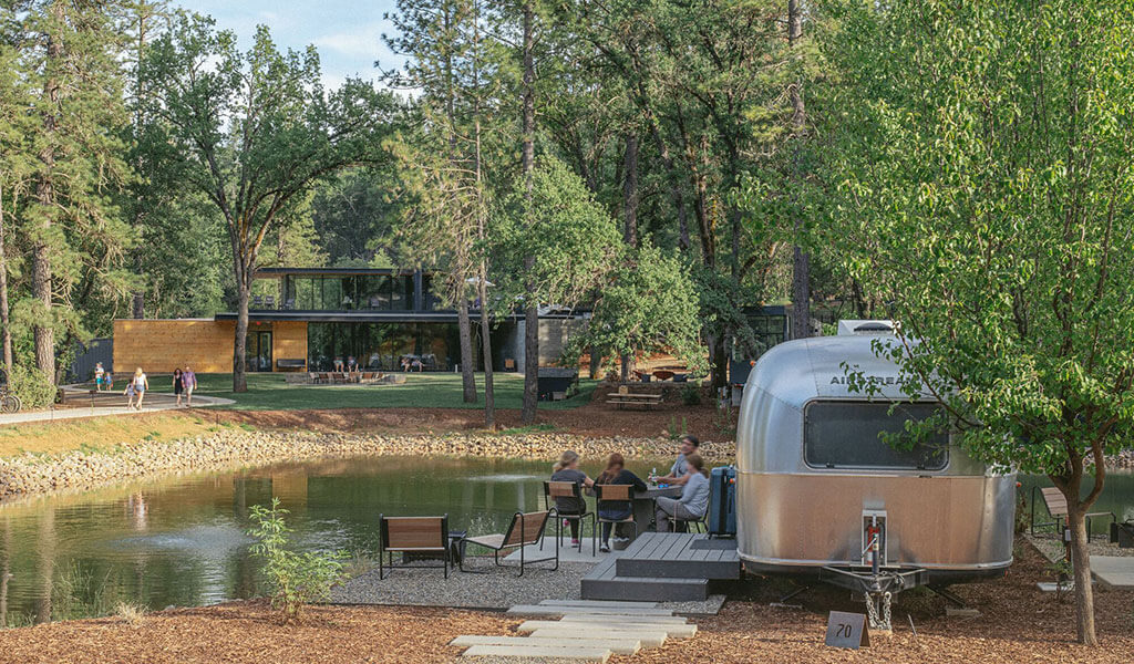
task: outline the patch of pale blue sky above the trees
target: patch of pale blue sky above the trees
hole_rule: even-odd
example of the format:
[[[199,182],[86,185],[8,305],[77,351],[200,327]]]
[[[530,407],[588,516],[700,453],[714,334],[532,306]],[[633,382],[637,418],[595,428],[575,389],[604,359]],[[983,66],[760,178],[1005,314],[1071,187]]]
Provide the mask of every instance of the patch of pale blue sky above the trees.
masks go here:
[[[175,0],[176,1],[176,0]],[[382,15],[393,11],[393,0],[180,0],[181,8],[217,19],[217,26],[236,33],[247,48],[256,26],[266,25],[280,50],[319,49],[325,87],[337,87],[350,76],[374,80],[374,62],[398,68],[404,58],[382,43],[393,26]]]

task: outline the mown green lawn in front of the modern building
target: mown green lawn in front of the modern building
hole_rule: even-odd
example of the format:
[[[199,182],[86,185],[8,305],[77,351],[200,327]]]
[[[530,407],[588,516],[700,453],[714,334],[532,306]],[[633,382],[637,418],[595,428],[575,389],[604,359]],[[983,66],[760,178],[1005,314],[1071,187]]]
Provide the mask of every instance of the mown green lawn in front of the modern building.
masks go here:
[[[197,374],[196,394],[223,397],[236,403],[235,410],[298,410],[327,408],[483,408],[484,375],[476,374],[477,401],[460,400],[460,374],[407,374],[400,385],[289,385],[284,374],[248,374],[248,391],[232,392],[232,374]],[[167,376],[152,377],[151,389],[172,392]],[[591,401],[598,382],[579,380],[581,391],[562,401],[542,401],[541,409],[577,408]],[[524,377],[518,374],[496,375],[497,408],[521,408]]]

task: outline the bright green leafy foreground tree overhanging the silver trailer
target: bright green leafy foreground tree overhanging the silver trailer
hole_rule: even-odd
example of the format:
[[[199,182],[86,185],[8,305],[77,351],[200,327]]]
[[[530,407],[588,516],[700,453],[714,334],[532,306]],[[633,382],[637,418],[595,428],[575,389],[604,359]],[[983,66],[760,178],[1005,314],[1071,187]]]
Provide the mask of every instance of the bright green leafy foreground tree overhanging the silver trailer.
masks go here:
[[[1084,514],[1134,431],[1134,3],[829,6],[829,241],[892,303],[911,394],[1066,496],[1095,645]]]

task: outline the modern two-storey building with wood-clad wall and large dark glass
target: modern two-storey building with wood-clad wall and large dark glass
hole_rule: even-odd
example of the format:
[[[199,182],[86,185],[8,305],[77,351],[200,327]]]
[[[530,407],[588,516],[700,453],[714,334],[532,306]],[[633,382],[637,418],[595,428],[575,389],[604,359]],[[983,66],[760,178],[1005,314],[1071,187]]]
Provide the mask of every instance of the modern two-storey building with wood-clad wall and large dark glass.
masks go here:
[[[331,371],[337,358],[348,357],[366,371],[399,371],[404,361],[423,371],[451,372],[459,365],[457,313],[433,295],[428,273],[268,267],[256,279],[254,292],[260,295],[248,312],[249,372]],[[166,373],[188,365],[198,373],[231,372],[236,317],[221,312],[212,318],[116,320],[112,371]],[[540,364],[558,359],[582,320],[578,313],[541,313]],[[523,371],[522,316],[496,322],[492,348],[494,369]],[[477,340],[474,349],[482,369]]]

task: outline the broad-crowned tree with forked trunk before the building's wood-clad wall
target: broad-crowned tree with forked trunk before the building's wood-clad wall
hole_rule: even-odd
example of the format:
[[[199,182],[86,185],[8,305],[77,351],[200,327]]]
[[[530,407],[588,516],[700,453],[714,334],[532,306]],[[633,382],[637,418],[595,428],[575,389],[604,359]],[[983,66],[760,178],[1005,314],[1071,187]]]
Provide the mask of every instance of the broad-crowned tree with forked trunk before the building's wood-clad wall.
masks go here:
[[[187,14],[153,42],[141,71],[154,97],[145,116],[175,147],[168,168],[215,205],[228,231],[238,313],[232,389],[243,392],[264,238],[315,182],[381,160],[398,104],[362,80],[324,91],[314,49],[281,53],[266,27],[242,53],[232,33]]]

